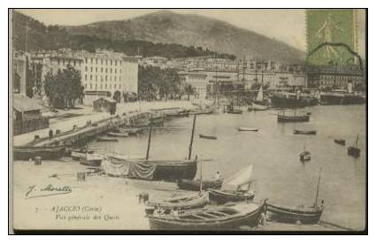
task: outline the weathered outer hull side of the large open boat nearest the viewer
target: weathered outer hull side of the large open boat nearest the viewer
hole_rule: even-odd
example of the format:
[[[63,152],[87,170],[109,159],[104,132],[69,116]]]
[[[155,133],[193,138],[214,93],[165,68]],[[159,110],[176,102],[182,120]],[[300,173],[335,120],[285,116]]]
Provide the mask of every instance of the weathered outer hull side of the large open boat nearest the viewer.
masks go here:
[[[211,214],[215,213],[215,210],[226,210],[231,208],[217,207],[211,210],[196,210],[194,213]],[[265,202],[260,204],[256,210],[249,210],[245,213],[239,213],[234,216],[228,216],[225,218],[211,218],[203,220],[189,220],[189,219],[173,219],[173,218],[160,218],[154,216],[148,216],[150,222],[150,229],[152,230],[239,230],[242,225],[256,226],[259,224],[261,215],[265,213]]]

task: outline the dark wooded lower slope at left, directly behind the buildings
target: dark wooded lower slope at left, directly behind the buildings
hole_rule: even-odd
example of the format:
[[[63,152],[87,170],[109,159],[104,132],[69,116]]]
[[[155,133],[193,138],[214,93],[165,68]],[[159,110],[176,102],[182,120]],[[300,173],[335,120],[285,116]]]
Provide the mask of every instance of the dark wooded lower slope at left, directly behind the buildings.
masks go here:
[[[117,36],[103,34],[71,33],[71,29],[59,26],[45,26],[38,20],[27,15],[13,12],[13,45],[16,50],[72,50],[96,49],[114,50],[127,55],[139,54],[143,57],[197,57],[217,55],[218,57],[234,58],[234,55],[203,50],[193,46],[177,43],[149,42],[145,40],[123,40]]]

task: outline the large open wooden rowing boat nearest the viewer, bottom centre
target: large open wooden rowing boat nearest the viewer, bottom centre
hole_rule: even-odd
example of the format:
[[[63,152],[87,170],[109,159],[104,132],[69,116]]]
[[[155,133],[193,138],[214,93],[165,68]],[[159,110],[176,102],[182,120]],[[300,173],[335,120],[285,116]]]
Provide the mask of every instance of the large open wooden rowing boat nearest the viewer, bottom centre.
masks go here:
[[[237,230],[242,225],[258,225],[265,211],[265,202],[238,202],[148,218],[153,230]]]

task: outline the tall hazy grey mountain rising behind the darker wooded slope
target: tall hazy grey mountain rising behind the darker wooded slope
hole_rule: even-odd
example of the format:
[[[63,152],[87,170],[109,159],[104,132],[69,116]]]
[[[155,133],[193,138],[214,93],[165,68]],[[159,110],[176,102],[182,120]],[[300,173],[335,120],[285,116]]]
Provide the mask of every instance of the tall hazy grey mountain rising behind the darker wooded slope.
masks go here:
[[[176,43],[217,50],[237,57],[264,57],[287,62],[299,62],[304,58],[303,51],[262,34],[234,27],[218,19],[172,11],[157,11],[134,19],[65,28],[70,34],[125,41]]]

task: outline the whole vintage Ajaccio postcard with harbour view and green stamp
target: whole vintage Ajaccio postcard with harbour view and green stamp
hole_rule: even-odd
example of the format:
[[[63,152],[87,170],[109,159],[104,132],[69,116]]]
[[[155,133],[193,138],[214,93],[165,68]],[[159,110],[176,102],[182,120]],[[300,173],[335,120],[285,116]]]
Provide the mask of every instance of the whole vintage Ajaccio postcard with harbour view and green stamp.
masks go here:
[[[367,233],[364,9],[11,9],[12,228]]]

